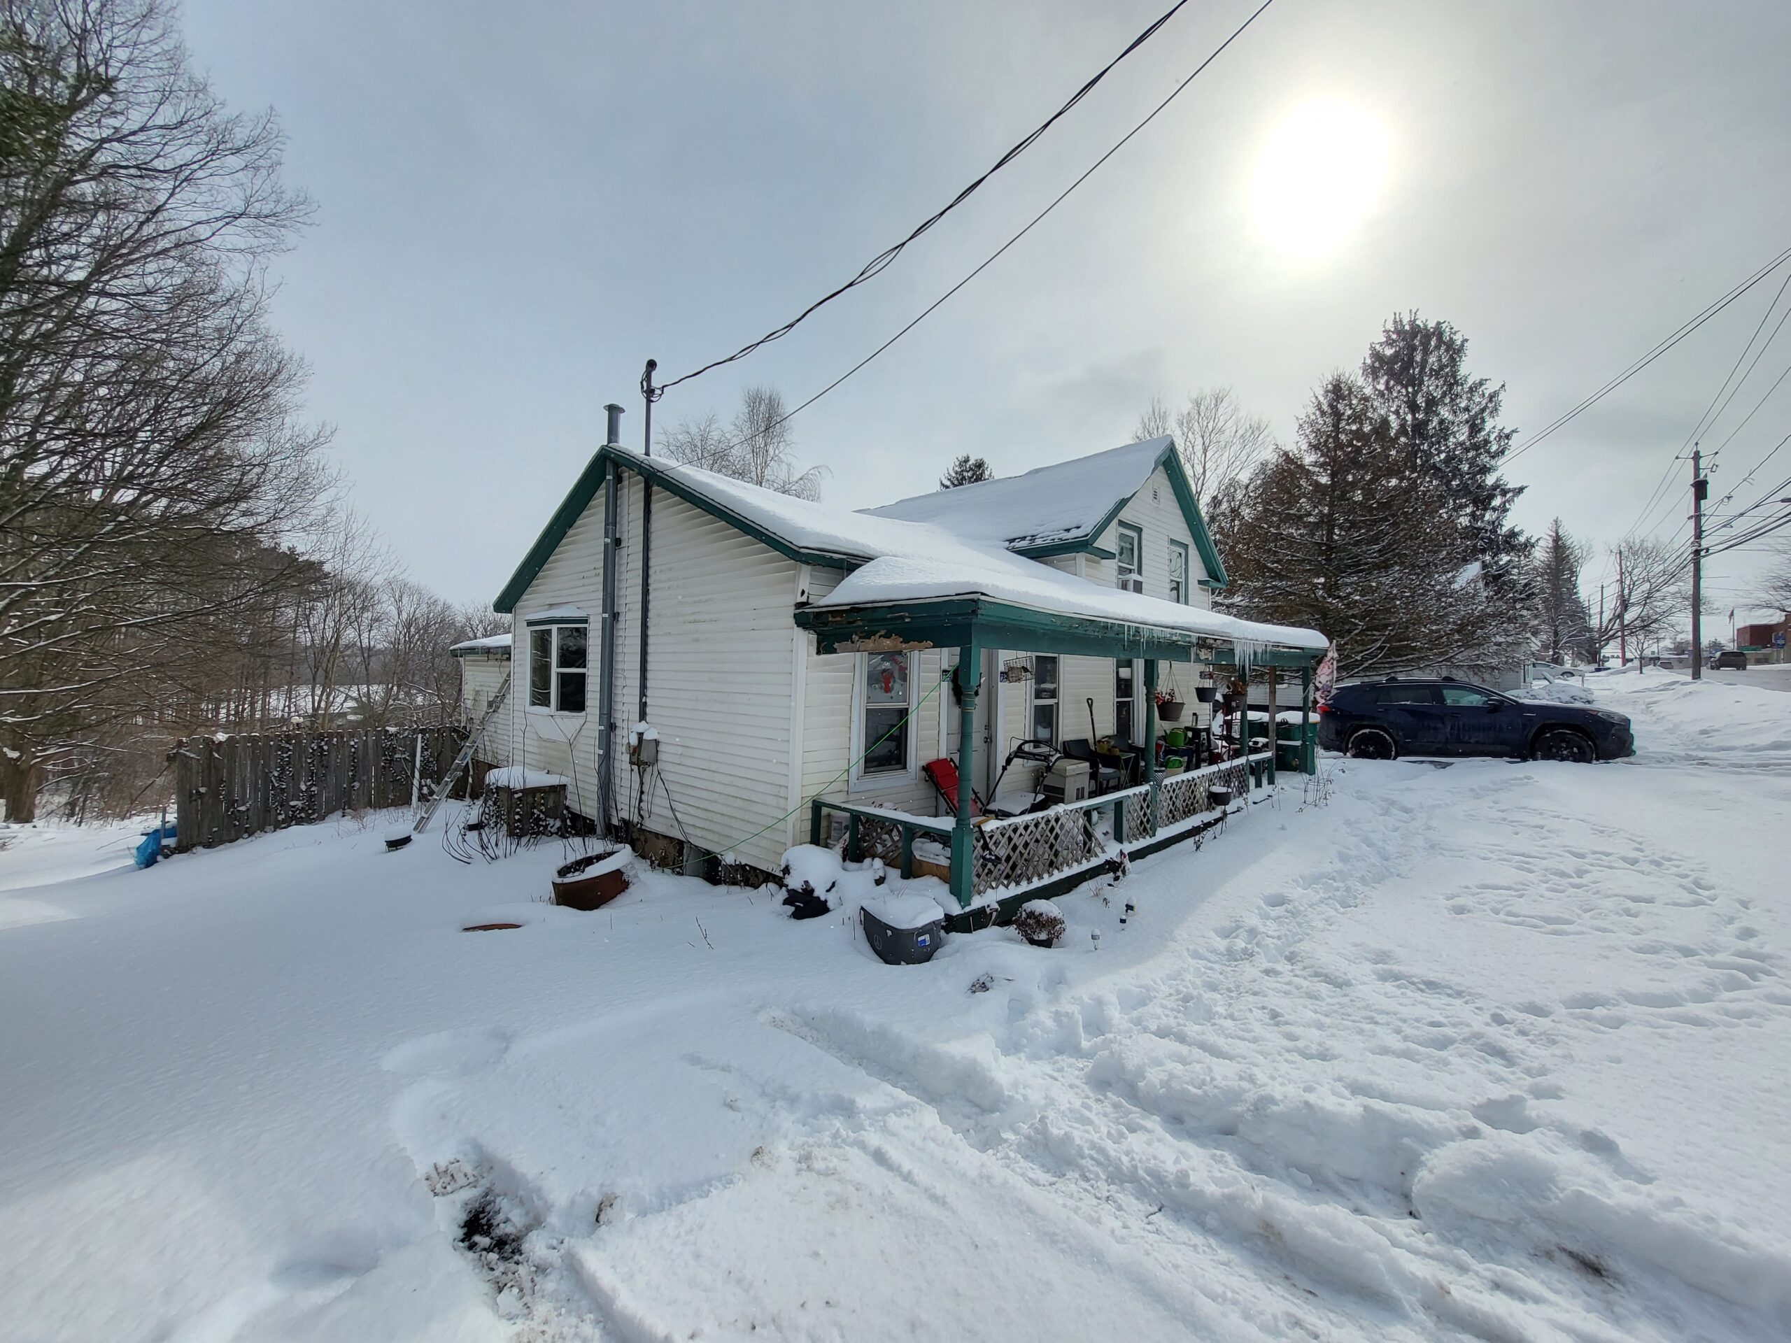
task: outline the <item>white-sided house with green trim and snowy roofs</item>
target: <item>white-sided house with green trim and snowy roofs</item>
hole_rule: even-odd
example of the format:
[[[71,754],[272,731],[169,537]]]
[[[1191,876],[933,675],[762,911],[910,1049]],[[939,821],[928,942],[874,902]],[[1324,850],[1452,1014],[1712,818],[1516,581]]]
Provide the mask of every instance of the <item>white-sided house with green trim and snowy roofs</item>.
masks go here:
[[[849,512],[634,453],[618,414],[494,603],[514,682],[480,754],[566,775],[573,809],[661,856],[776,870],[822,809],[901,813],[904,852],[951,845],[969,902],[999,874],[973,879],[969,795],[933,820],[926,761],[989,797],[1021,738],[1144,741],[1152,686],[1193,702],[1202,668],[1324,652],[1211,609],[1225,571],[1170,439]],[[469,713],[505,663],[475,645]],[[1153,834],[1155,799],[1121,829]]]

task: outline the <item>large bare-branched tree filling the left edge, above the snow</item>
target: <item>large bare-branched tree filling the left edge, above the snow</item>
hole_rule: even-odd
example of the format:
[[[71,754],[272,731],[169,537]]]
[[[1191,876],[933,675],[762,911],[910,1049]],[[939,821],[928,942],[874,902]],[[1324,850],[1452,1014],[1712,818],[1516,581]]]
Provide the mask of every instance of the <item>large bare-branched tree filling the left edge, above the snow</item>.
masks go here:
[[[242,677],[222,641],[306,582],[288,537],[326,482],[267,326],[265,261],[306,213],[272,116],[217,100],[161,0],[0,0],[0,791],[23,818],[208,654]]]

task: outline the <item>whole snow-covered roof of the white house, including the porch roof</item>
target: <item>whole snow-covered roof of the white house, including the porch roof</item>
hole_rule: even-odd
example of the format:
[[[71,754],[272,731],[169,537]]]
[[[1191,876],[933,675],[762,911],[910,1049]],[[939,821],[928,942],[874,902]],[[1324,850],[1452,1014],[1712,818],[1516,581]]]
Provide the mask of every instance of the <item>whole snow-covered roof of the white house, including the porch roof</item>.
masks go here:
[[[1014,476],[1010,482],[985,482],[985,485],[942,491],[938,498],[974,492],[987,485],[1010,485],[1014,487],[1012,500],[1017,501],[1003,516],[1012,519],[1021,516],[1023,507],[1037,503],[1042,509],[1041,501],[1048,494],[1071,492],[1078,483],[1084,491],[1093,491],[1093,482],[1100,480],[1101,501],[1098,505],[1080,500],[1075,501],[1075,509],[1066,505],[1050,516],[1033,514],[1041,519],[1039,534],[1055,526],[1058,539],[1076,539],[1071,535],[1075,528],[1080,526],[1087,534],[1087,528],[1100,523],[1096,507],[1101,516],[1112,510],[1116,494],[1114,489],[1109,489],[1109,478],[1118,480],[1118,489],[1130,483],[1132,492],[1135,492],[1164,458],[1166,449],[1173,458],[1173,444],[1168,439],[1146,439],[1109,453],[1096,453],[1080,462],[1041,467],[1024,476]],[[847,575],[838,587],[815,603],[818,609],[980,596],[1053,616],[1084,616],[1152,627],[1221,643],[1275,645],[1300,650],[1325,648],[1325,637],[1316,630],[1236,620],[1216,611],[1125,593],[1062,573],[1014,553],[1008,548],[1010,537],[996,535],[1007,523],[989,525],[976,530],[974,535],[965,535],[973,528],[960,526],[960,518],[906,519],[890,518],[887,510],[849,512],[777,494],[713,471],[648,458],[613,444],[596,453],[578,485],[555,514],[555,523],[548,525],[523,566],[512,575],[510,584],[498,598],[500,611],[514,609],[516,598],[527,591],[528,582],[539,573],[559,539],[564,537],[564,530],[555,534],[557,523],[566,519],[564,526],[570,528],[571,521],[589,505],[609,460],[650,478],[656,485],[734,525],[790,559],[845,569]],[[1087,466],[1091,462],[1098,466]],[[1033,483],[1021,489],[1021,482],[1028,480]],[[1046,489],[1039,483],[1041,480],[1055,483]],[[933,496],[926,498],[930,501]],[[919,507],[919,501],[910,503]],[[949,512],[960,505],[947,501],[942,507]],[[528,616],[528,620],[539,618],[541,612]]]

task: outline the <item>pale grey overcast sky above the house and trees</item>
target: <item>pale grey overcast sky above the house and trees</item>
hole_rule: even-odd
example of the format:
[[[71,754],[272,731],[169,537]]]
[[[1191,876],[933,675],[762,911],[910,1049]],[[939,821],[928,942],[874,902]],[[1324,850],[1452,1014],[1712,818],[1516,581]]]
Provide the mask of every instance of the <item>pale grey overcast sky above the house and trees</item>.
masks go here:
[[[356,505],[417,578],[489,602],[602,442],[605,401],[639,444],[647,356],[684,372],[792,317],[1166,7],[188,0],[186,36],[231,104],[278,111],[287,177],[317,202],[276,319]],[[818,390],[1252,7],[1191,4],[881,278],[673,390],[659,423],[725,417],[747,383],[792,405]],[[1787,52],[1782,0],[1277,0],[1039,229],[797,417],[802,462],[833,473],[826,501],[863,507],[931,487],[960,451],[1008,475],[1127,442],[1152,394],[1216,385],[1290,439],[1311,389],[1408,308],[1454,322],[1506,383],[1506,423],[1540,428],[1791,245]],[[1309,254],[1255,184],[1315,102],[1367,127],[1329,167],[1372,179],[1381,143],[1384,172]],[[1519,521],[1560,514],[1594,543],[1632,526],[1778,278],[1517,460]],[[1791,335],[1707,448],[1787,364]],[[1791,385],[1721,451],[1712,496],[1787,430]],[[1791,446],[1737,501],[1784,475]],[[1655,509],[1666,532],[1685,498]],[[1759,566],[1712,562],[1725,612]]]

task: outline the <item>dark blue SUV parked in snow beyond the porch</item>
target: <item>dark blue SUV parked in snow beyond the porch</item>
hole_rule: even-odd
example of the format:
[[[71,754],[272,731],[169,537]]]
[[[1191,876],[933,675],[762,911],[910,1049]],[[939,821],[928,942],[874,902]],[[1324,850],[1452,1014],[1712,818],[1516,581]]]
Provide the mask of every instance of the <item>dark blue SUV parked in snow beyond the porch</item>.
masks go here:
[[[1318,706],[1318,745],[1358,759],[1517,756],[1594,761],[1635,754],[1630,720],[1580,704],[1531,704],[1465,680],[1338,686]]]

